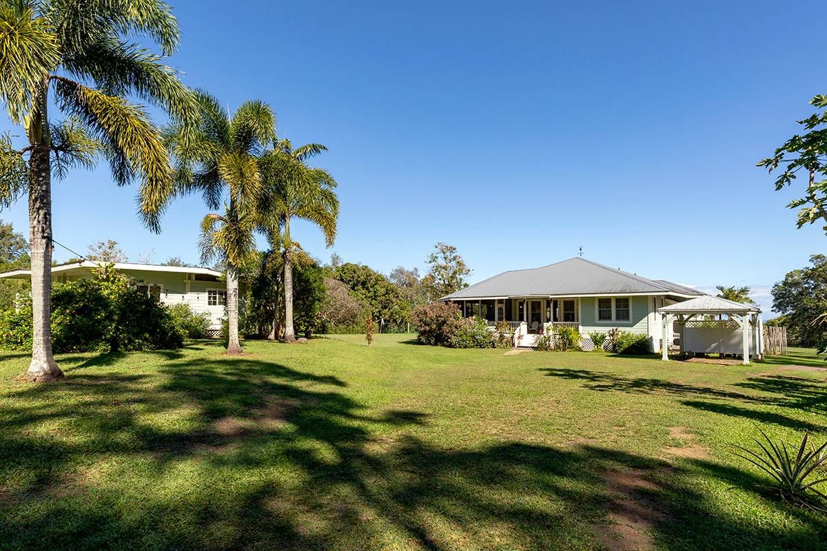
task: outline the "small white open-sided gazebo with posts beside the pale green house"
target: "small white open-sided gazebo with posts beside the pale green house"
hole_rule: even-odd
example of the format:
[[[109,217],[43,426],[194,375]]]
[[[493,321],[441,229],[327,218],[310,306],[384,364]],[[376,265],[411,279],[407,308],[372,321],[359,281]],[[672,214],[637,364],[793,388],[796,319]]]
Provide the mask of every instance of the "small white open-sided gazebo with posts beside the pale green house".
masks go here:
[[[663,306],[657,313],[662,316],[664,361],[669,360],[674,321],[681,354],[742,354],[743,363],[749,363],[750,354],[763,358],[763,322],[756,306],[705,295]]]

